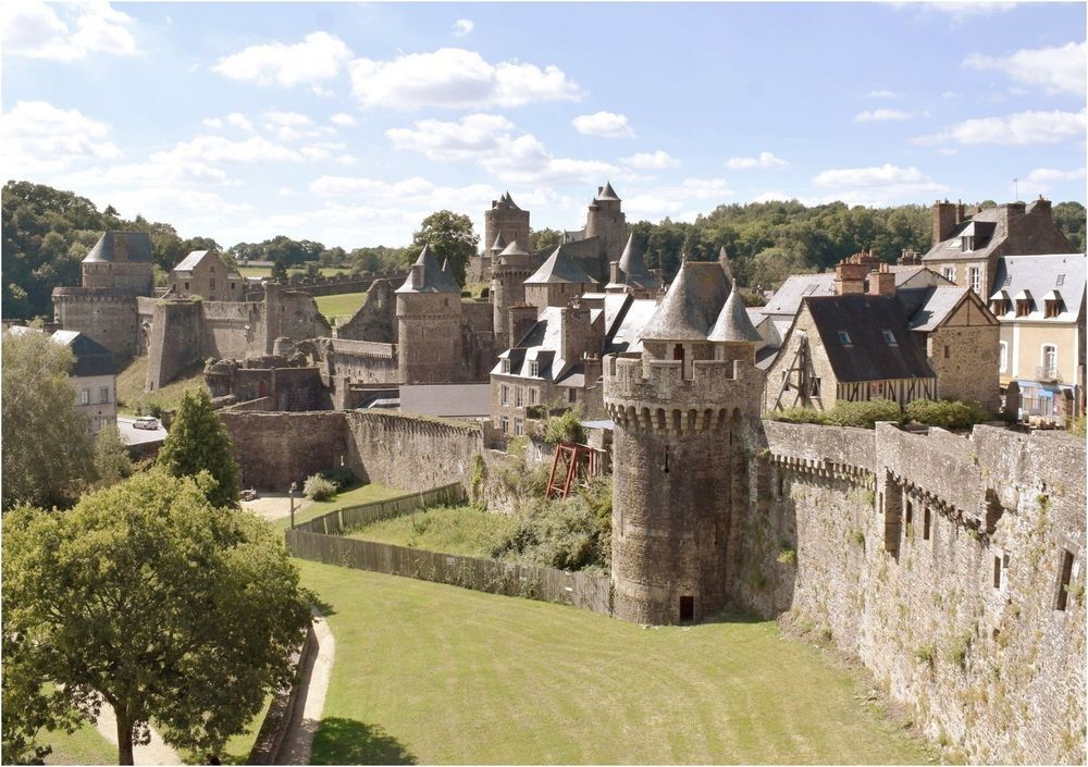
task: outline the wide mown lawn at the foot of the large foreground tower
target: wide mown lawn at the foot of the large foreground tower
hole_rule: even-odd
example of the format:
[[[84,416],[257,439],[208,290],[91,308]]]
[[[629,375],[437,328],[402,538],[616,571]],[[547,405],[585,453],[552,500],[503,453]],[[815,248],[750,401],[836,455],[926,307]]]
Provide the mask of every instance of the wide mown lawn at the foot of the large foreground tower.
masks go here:
[[[299,561],[336,659],[312,764],[916,764],[851,672],[774,622],[643,629]]]

